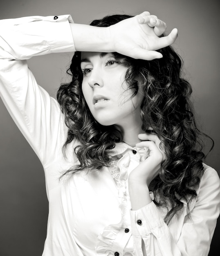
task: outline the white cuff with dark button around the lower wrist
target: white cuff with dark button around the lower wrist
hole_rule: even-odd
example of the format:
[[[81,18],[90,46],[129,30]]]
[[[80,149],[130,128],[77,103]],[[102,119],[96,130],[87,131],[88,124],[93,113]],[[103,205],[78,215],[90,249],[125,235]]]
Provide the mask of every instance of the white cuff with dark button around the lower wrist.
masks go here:
[[[164,224],[164,220],[152,201],[137,211],[130,211],[132,233],[144,235]]]

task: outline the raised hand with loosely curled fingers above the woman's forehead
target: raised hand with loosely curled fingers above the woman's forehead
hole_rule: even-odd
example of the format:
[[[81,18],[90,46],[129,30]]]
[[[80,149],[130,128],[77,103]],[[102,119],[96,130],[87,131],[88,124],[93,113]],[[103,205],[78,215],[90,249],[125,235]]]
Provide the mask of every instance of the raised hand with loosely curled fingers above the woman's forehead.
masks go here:
[[[156,50],[171,45],[177,38],[177,29],[173,29],[168,36],[158,37],[165,31],[166,23],[147,11],[108,29],[114,52],[148,61],[162,58]]]

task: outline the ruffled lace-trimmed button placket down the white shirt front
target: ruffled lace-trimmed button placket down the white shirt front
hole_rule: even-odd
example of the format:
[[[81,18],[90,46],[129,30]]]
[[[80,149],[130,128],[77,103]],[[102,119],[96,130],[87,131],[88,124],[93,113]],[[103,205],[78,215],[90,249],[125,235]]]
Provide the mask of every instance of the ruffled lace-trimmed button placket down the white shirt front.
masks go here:
[[[130,151],[130,152],[129,152]],[[148,157],[147,149],[137,149],[137,165]],[[135,256],[134,241],[130,225],[130,197],[128,193],[128,175],[130,171],[128,166],[131,161],[131,150],[123,155],[112,157],[109,170],[117,186],[119,210],[121,212],[121,221],[117,224],[111,224],[104,228],[102,234],[98,237],[96,253],[98,256],[117,255]]]

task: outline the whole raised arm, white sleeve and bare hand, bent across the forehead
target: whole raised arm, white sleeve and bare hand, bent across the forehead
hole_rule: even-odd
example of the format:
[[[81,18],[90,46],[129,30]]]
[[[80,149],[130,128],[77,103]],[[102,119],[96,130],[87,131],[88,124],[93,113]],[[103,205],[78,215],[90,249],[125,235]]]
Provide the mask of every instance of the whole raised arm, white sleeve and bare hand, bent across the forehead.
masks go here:
[[[64,142],[66,127],[58,103],[38,86],[26,60],[75,50],[161,58],[155,50],[173,43],[177,31],[159,38],[166,25],[149,14],[144,12],[106,28],[74,24],[69,15],[0,21],[0,94],[43,164],[54,157],[51,149]]]

